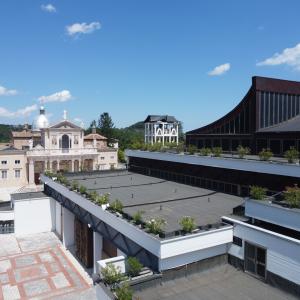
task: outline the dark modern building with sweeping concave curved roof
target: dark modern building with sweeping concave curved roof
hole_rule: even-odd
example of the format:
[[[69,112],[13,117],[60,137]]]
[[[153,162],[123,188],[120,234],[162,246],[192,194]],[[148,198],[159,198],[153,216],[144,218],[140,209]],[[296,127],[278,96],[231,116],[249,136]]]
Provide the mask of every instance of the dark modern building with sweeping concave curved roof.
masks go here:
[[[186,133],[186,144],[222,147],[239,145],[253,154],[270,148],[282,155],[300,148],[300,82],[254,76],[241,102],[219,120]]]

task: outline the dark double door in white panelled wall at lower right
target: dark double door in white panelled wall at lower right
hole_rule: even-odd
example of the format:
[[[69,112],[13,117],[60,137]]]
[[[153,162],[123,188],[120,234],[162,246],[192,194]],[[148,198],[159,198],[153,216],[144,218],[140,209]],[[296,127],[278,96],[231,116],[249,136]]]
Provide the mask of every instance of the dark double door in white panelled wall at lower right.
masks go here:
[[[245,271],[266,277],[266,249],[245,242]]]

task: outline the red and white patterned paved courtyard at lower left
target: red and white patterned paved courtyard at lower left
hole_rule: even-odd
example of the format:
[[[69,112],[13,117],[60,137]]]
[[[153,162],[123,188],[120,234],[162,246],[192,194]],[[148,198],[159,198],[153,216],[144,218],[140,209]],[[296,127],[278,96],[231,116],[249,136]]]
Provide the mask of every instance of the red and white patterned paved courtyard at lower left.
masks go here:
[[[70,299],[83,295],[84,299],[85,293],[93,295],[53,233],[23,238],[0,235],[1,300],[60,299],[65,295]]]

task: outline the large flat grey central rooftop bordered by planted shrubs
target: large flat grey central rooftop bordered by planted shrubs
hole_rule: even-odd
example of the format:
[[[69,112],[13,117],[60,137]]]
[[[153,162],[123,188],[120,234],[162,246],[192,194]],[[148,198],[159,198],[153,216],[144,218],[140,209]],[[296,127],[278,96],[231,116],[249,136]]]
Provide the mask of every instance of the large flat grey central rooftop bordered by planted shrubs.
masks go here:
[[[68,178],[89,191],[110,193],[111,201],[121,200],[124,212],[129,215],[143,210],[144,220],[164,218],[166,232],[180,229],[178,221],[183,216],[194,217],[198,226],[218,223],[222,216],[231,214],[234,207],[243,203],[241,197],[128,171],[69,175]]]

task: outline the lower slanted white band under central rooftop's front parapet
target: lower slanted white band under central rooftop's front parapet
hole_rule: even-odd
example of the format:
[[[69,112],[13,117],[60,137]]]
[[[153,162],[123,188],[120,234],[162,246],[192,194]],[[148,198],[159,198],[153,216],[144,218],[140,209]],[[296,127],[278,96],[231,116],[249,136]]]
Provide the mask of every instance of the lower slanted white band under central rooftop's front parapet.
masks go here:
[[[227,253],[227,245],[223,244],[216,247],[206,248],[199,251],[188,252],[161,259],[159,268],[161,271],[168,270],[225,253]]]

